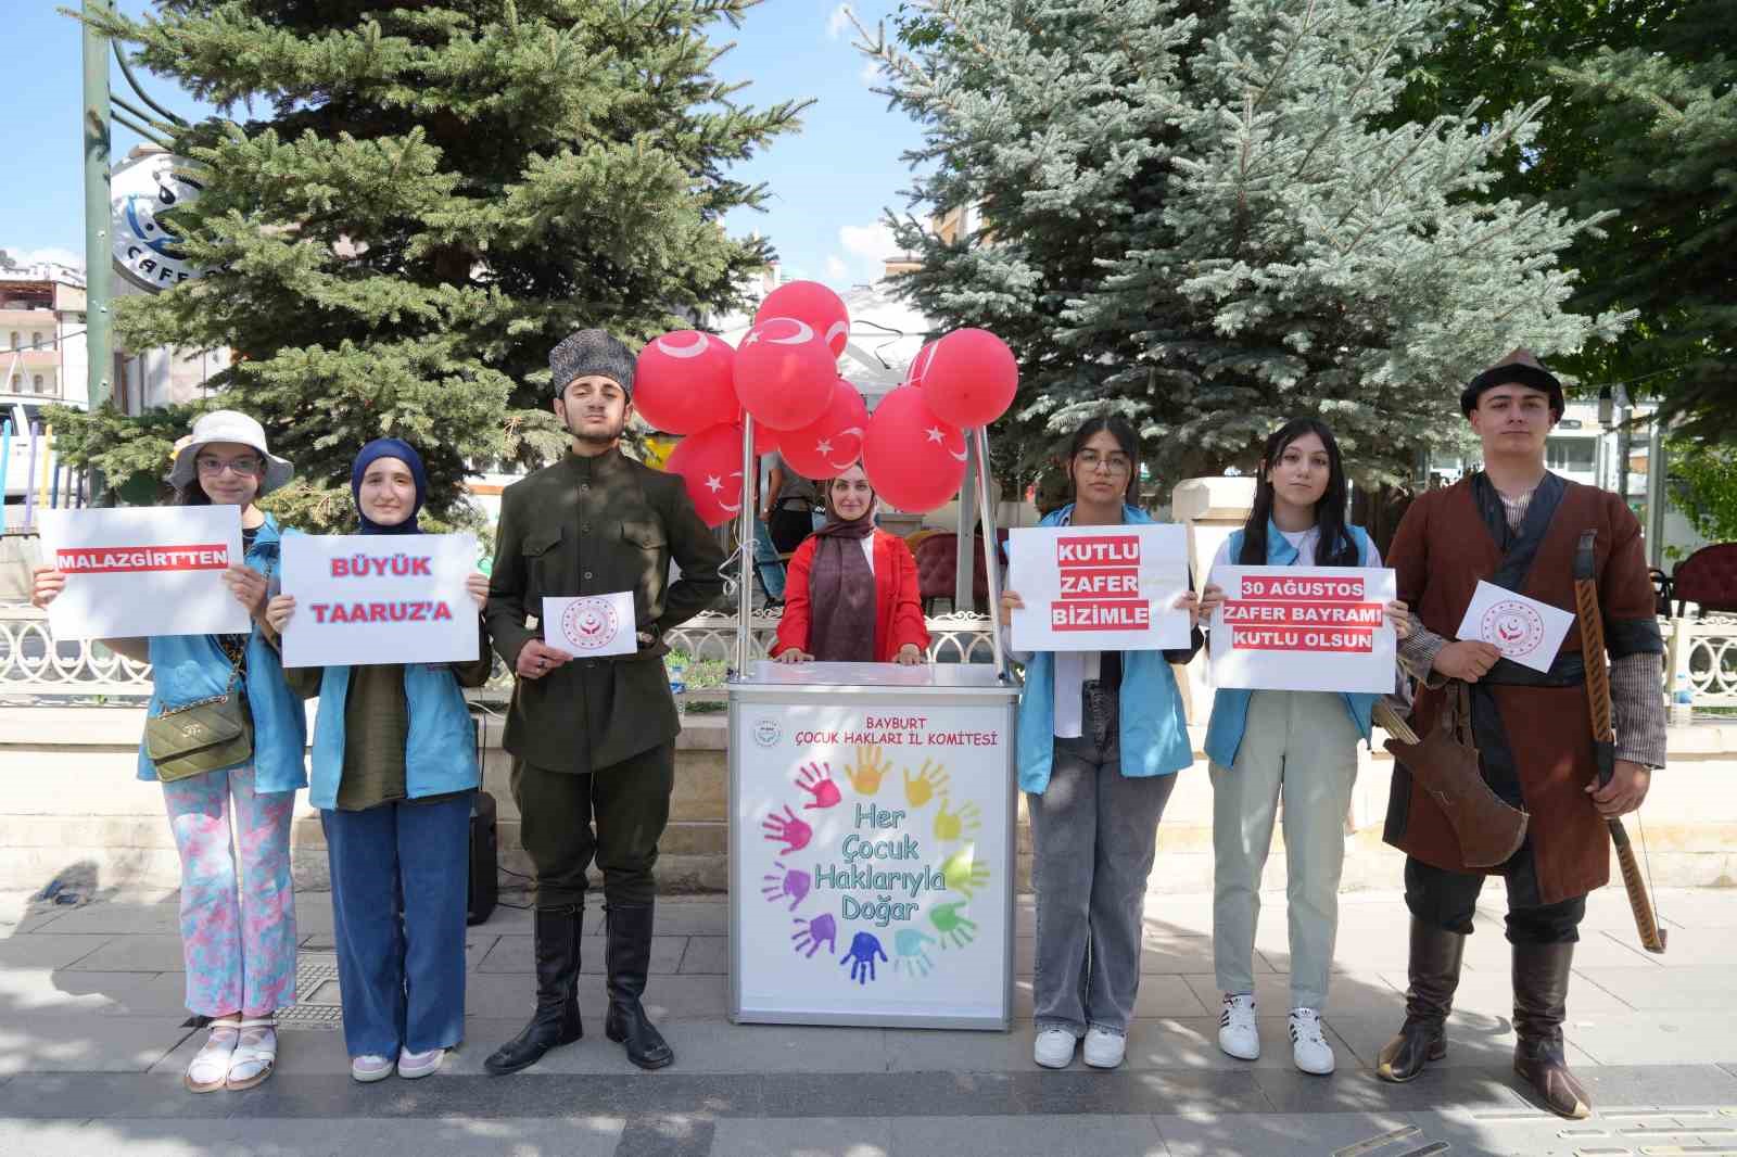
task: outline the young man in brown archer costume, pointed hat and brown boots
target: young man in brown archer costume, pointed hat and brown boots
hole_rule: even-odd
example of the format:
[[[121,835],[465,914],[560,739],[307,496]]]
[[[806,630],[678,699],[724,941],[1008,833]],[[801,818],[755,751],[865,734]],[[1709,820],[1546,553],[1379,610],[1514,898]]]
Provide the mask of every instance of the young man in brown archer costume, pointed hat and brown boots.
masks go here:
[[[1419,624],[1400,660],[1421,681],[1412,730],[1430,735],[1450,681],[1470,684],[1471,735],[1483,782],[1530,813],[1504,863],[1468,867],[1443,806],[1414,783],[1397,752],[1386,841],[1407,853],[1410,987],[1405,1023],[1381,1051],[1386,1081],[1410,1081],[1445,1055],[1443,1021],[1487,874],[1508,883],[1513,945],[1515,1072],[1553,1112],[1591,1105],[1563,1058],[1569,969],[1586,895],[1610,877],[1607,818],[1640,808],[1664,766],[1664,645],[1640,523],[1621,497],[1544,469],[1544,438],[1562,419],[1562,384],[1525,349],[1471,380],[1459,398],[1483,441],[1483,469],[1417,497],[1388,554],[1398,596]],[[1598,612],[1610,653],[1615,771],[1598,783],[1579,627],[1548,674],[1489,643],[1456,643],[1478,580],[1574,612],[1581,535],[1596,533]],[[1421,775],[1421,773],[1419,773]],[[1459,818],[1459,817],[1456,817]]]

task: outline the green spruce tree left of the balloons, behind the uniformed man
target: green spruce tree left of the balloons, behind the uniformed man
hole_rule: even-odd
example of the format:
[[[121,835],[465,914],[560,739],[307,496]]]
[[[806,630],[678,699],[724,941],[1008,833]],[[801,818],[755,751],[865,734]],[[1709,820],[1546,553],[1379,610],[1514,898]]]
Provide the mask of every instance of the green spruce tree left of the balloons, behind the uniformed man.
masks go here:
[[[730,177],[801,102],[738,104],[707,40],[757,0],[158,0],[104,31],[224,116],[175,136],[205,186],[172,214],[208,269],[129,299],[132,347],[231,347],[221,405],[261,419],[302,479],[297,521],[347,521],[349,462],[391,434],[436,516],[499,457],[559,452],[547,351],[733,304],[769,250],[721,217]],[[229,120],[236,109],[254,118]],[[163,469],[165,417],[71,429],[111,474]]]

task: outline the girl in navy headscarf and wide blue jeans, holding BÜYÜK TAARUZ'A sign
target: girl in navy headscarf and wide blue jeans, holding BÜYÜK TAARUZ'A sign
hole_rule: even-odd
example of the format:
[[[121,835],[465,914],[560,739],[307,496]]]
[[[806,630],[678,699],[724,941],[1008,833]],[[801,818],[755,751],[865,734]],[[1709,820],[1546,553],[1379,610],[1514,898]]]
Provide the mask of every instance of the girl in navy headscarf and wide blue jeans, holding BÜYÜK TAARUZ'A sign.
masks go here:
[[[422,459],[396,438],[361,448],[349,488],[365,535],[415,535],[427,499]],[[478,606],[488,580],[469,575]],[[295,599],[271,599],[276,631]],[[313,785],[332,867],[337,975],[349,1075],[426,1077],[464,1035],[464,917],[471,801],[479,780],[466,686],[488,679],[481,638],[467,664],[301,667],[320,697]],[[384,658],[384,657],[382,657]]]

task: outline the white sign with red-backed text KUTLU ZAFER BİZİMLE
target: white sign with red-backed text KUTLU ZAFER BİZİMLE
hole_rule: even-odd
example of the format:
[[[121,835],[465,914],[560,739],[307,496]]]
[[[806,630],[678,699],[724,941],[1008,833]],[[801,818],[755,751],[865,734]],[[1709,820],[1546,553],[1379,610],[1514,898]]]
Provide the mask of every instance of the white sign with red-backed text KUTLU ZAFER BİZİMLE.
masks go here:
[[[1188,532],[1178,525],[1037,526],[1007,535],[1020,651],[1188,646]]]

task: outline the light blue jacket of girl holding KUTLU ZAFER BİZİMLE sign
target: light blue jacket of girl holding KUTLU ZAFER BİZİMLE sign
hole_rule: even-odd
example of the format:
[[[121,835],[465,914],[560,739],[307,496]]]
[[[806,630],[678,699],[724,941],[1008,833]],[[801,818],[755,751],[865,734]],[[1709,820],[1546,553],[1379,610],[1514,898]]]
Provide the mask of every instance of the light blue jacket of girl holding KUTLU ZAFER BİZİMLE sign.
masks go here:
[[[1040,525],[1061,526],[1073,506],[1053,511]],[[1153,519],[1131,506],[1122,507],[1122,521],[1138,525]],[[1188,721],[1176,690],[1176,676],[1162,651],[1122,651],[1120,695],[1122,775],[1145,778],[1172,775],[1193,763]],[[1042,794],[1056,761],[1056,657],[1037,651],[1025,665],[1025,690],[1020,691],[1020,723],[1014,744],[1020,764],[1020,790]]]

